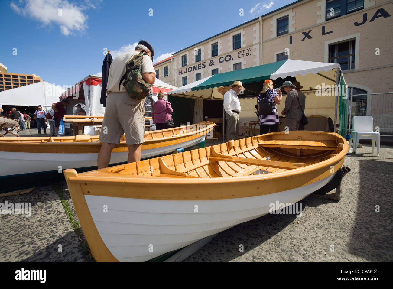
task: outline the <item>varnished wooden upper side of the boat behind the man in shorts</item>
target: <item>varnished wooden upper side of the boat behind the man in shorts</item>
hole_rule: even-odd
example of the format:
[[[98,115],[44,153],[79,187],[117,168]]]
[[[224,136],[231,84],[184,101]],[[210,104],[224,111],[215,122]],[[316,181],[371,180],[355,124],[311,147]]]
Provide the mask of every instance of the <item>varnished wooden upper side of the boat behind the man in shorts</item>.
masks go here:
[[[189,126],[185,126],[148,132],[145,134],[145,142],[142,144],[142,149],[159,148],[193,140],[212,131],[215,123],[208,121],[200,122],[196,125],[206,125],[206,127],[195,131],[189,131]],[[183,129],[188,132],[180,133]],[[162,136],[163,134],[165,137]],[[83,135],[82,137],[90,137],[90,139],[87,141],[81,140],[80,142],[75,141],[77,137],[5,137],[0,139],[0,151],[26,153],[98,153],[101,148],[99,136]],[[53,142],[49,142],[51,139]],[[128,151],[125,140],[121,140],[120,144],[116,145],[112,152],[121,151]]]

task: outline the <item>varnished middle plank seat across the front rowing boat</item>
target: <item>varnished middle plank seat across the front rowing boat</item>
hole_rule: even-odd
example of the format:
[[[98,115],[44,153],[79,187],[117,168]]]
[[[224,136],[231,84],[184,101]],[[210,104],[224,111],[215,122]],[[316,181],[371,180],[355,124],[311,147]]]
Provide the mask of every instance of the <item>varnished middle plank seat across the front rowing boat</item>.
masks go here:
[[[236,156],[220,155],[211,147],[211,154],[209,160],[221,160],[223,162],[236,162],[239,164],[247,164],[249,166],[261,166],[268,168],[279,168],[279,169],[298,169],[300,167],[309,166],[310,164],[293,163],[293,162],[279,162],[274,160],[260,160],[252,158],[239,158]]]

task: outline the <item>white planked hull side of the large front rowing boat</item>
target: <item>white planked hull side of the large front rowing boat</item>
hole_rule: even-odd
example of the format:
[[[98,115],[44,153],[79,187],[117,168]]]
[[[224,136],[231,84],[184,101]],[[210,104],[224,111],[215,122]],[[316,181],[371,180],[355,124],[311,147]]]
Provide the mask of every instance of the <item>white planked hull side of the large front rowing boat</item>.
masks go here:
[[[270,204],[276,201],[298,202],[333,177],[334,174],[292,190],[236,199],[167,201],[97,195],[84,195],[84,198],[112,255],[119,261],[147,261],[266,215]]]

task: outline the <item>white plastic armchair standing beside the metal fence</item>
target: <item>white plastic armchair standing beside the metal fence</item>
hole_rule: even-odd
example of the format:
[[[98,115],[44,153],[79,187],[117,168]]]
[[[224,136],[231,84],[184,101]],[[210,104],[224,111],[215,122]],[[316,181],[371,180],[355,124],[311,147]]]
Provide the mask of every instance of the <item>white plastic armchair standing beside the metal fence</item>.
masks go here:
[[[356,153],[356,148],[358,147],[358,142],[360,139],[371,140],[371,145],[373,147],[373,153],[376,142],[376,151],[379,156],[379,144],[381,137],[378,132],[373,130],[374,122],[372,116],[354,116],[352,121],[352,131],[351,138],[349,139],[349,148],[351,148],[351,143],[353,143],[353,153]]]

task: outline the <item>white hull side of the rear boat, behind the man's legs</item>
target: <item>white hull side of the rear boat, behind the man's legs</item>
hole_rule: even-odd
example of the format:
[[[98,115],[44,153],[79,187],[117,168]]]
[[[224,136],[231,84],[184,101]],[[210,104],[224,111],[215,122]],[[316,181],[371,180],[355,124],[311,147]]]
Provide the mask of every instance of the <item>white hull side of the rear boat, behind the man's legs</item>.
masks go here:
[[[205,135],[181,142],[152,149],[143,149],[141,159],[152,158],[173,153],[176,149],[192,147],[204,142]],[[98,153],[21,153],[0,151],[0,177],[14,177],[16,175],[59,171],[64,169],[90,168],[97,166]],[[127,162],[128,151],[113,152],[110,165]]]

